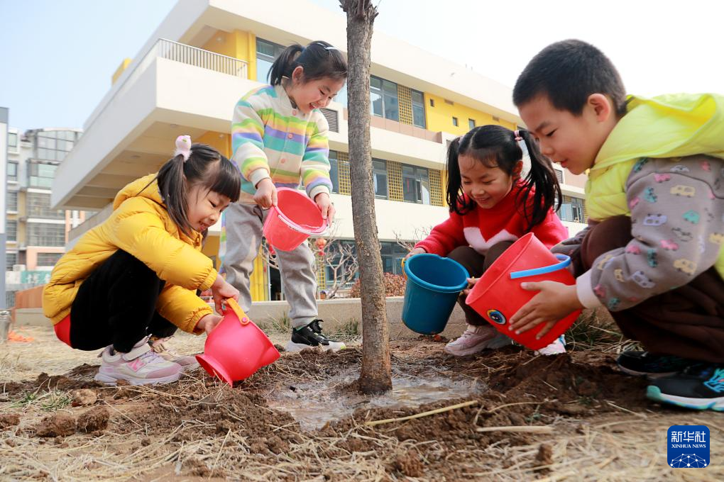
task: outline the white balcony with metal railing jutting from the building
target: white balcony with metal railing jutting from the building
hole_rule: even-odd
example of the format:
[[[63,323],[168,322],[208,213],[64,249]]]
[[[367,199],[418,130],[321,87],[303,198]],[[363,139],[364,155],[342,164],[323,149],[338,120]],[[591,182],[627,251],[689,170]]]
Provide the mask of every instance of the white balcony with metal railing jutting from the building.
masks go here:
[[[232,106],[258,85],[247,74],[245,61],[157,40],[91,113],[57,168],[51,205],[100,210],[125,184],[157,171],[177,136],[228,132]]]

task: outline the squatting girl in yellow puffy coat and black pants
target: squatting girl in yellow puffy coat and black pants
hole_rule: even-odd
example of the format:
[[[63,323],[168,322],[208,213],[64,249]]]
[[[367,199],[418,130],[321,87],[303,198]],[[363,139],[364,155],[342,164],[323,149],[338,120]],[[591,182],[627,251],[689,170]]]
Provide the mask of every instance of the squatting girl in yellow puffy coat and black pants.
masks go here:
[[[221,317],[197,290],[211,289],[219,312],[222,300],[239,296],[201,253],[203,233],[239,198],[239,170],[188,136],[176,147],[158,173],[119,191],[110,217],[59,259],[43,290],[43,313],[60,340],[105,347],[98,382],[178,379],[180,359],[160,356],[149,337],[163,340],[177,327],[211,332]]]

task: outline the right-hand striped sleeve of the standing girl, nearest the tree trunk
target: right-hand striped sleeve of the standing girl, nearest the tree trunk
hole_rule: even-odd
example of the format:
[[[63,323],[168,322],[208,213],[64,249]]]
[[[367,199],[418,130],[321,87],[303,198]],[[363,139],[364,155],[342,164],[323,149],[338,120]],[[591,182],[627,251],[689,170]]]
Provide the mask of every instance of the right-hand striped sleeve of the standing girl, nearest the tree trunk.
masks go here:
[[[329,124],[321,113],[316,123],[302,158],[302,180],[307,195],[314,199],[317,194],[332,192],[332,181],[329,180]]]

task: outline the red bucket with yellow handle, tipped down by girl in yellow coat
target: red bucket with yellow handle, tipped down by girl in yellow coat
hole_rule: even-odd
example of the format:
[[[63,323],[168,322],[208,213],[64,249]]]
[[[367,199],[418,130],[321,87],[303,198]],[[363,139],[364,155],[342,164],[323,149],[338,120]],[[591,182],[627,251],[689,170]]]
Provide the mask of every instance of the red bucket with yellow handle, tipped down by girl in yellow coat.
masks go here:
[[[231,385],[277,361],[279,352],[233,298],[225,303],[224,319],[206,337],[203,353],[196,359],[209,375]]]

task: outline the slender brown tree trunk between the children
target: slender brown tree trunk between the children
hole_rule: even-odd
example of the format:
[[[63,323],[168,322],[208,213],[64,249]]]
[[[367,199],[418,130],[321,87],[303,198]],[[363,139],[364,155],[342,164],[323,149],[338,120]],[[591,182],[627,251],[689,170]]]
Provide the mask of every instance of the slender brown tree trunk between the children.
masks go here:
[[[377,10],[370,0],[340,0],[347,14],[348,108],[352,220],[360,265],[362,296],[362,373],[365,393],[392,388],[390,327],[384,298],[372,184],[369,139],[369,64],[372,25]]]

